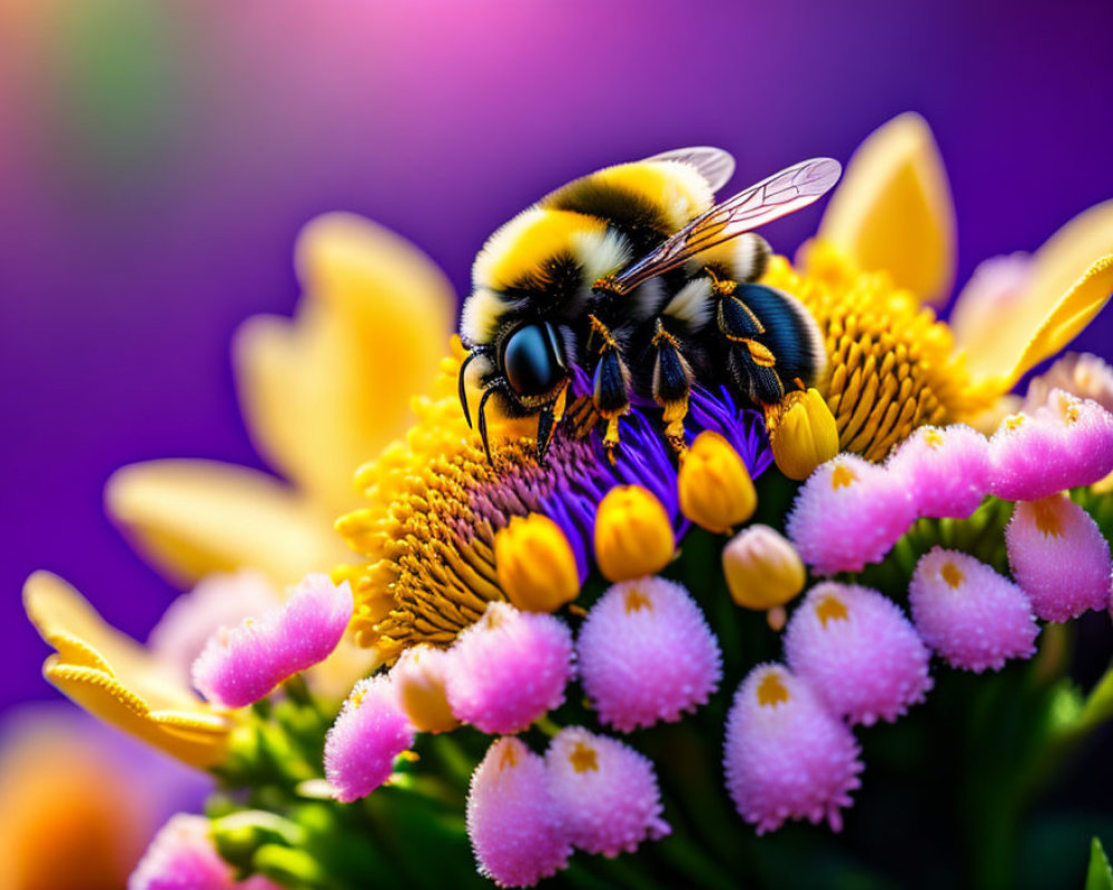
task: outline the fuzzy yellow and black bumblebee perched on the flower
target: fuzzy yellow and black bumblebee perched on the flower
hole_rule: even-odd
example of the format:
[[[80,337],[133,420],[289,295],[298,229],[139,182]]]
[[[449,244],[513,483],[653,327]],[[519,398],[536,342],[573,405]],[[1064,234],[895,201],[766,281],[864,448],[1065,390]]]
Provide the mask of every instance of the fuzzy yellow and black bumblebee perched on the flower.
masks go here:
[[[684,453],[693,385],[728,386],[767,418],[824,373],[826,350],[794,297],[756,284],[771,254],[752,229],[805,207],[841,168],[806,160],[727,200],[713,195],[735,161],[686,148],[570,182],[492,235],[475,259],[461,338],[483,394],[476,413],[491,458],[485,409],[536,415],[544,461],[569,389],[590,380],[589,426],[605,424],[611,461],[631,404],[662,409],[664,436]]]

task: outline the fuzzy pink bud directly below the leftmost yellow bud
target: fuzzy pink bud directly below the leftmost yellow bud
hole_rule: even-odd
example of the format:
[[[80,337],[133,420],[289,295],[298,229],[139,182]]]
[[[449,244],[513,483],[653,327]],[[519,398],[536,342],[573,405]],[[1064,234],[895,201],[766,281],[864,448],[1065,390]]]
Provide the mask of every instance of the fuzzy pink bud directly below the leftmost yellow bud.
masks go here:
[[[552,615],[491,603],[452,647],[452,713],[483,732],[521,732],[564,701],[572,633]]]

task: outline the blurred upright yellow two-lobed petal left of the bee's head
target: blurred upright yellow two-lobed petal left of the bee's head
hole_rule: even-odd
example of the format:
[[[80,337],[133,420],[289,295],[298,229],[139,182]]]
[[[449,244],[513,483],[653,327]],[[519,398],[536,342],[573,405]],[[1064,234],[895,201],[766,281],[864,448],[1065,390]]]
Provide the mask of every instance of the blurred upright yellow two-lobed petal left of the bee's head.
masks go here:
[[[315,219],[296,250],[305,296],[293,319],[248,319],[234,344],[259,452],[333,513],[352,474],[408,422],[436,375],[455,297],[403,238],[347,214]]]

